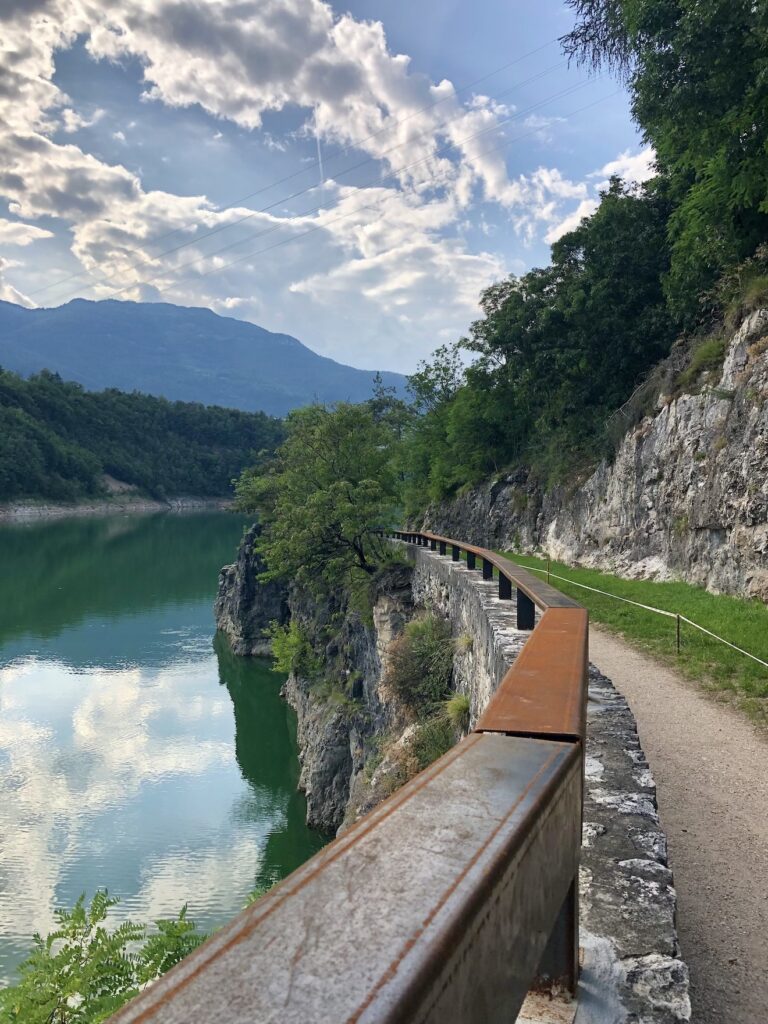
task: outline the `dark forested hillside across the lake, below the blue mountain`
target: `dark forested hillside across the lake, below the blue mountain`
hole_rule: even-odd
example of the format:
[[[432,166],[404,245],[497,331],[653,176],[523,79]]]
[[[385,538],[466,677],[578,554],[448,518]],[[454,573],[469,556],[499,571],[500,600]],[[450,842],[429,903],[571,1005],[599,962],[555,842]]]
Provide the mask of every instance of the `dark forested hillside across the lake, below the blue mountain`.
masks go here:
[[[97,497],[104,474],[154,498],[223,496],[281,437],[280,421],[263,413],[0,371],[0,502]]]

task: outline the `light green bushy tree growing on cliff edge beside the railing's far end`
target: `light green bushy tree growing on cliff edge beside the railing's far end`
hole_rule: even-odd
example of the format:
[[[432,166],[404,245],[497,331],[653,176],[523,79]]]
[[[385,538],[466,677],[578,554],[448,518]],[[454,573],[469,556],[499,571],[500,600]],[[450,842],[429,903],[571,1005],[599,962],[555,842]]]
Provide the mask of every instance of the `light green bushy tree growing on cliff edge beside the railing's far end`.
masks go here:
[[[378,531],[397,505],[395,434],[370,404],[291,413],[273,460],[241,477],[238,504],[257,512],[268,577],[310,588],[372,575],[385,558]]]

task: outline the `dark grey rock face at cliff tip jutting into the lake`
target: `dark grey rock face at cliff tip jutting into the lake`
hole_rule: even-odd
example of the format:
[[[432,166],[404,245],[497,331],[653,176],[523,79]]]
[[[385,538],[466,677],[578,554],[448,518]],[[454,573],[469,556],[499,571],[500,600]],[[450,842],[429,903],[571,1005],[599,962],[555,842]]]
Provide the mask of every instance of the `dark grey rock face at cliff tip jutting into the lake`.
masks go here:
[[[264,630],[271,622],[285,623],[288,617],[285,585],[257,580],[264,571],[261,558],[253,550],[258,534],[258,525],[251,526],[241,542],[238,560],[219,572],[213,605],[216,628],[229,638],[236,654],[268,654]]]

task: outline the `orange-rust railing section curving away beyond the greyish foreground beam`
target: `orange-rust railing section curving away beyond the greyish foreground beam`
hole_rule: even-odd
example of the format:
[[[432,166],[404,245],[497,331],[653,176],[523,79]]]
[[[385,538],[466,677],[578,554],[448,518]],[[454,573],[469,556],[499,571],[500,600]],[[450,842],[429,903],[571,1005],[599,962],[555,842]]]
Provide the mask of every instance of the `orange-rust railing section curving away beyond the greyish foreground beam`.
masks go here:
[[[494,564],[544,610],[475,729],[584,740],[587,730],[589,612],[532,572],[487,548],[427,531],[394,530],[470,552]]]

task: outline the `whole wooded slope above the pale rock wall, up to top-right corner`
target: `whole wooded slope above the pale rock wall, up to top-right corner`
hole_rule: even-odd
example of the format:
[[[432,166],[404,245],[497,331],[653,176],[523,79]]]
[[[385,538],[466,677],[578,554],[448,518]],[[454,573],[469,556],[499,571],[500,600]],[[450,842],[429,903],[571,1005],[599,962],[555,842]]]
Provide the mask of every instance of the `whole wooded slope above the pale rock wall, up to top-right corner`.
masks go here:
[[[611,414],[673,343],[683,370],[665,386],[700,387],[768,300],[766,4],[569,5],[566,53],[628,85],[656,175],[611,180],[548,266],[487,289],[468,336],[411,379],[422,415],[398,458],[412,513],[503,470],[546,488],[610,459]]]

